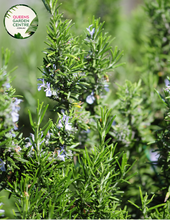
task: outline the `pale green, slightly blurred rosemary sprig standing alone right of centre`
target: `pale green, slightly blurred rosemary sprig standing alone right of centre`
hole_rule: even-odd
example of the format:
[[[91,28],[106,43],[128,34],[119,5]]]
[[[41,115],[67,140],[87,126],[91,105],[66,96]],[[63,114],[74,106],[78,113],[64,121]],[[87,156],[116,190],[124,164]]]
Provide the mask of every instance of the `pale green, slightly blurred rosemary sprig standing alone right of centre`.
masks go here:
[[[153,115],[144,108],[141,80],[134,84],[126,81],[125,85],[119,86],[117,96],[116,126],[111,134],[121,145],[138,151],[139,145],[153,141],[150,130]]]

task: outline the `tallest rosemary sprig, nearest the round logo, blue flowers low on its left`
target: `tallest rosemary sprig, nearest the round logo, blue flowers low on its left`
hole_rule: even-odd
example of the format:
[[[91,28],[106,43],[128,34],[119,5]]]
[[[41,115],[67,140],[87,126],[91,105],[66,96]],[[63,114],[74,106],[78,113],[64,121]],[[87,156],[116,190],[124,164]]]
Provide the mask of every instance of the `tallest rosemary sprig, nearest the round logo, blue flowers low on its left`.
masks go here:
[[[54,110],[66,110],[71,108],[73,101],[78,101],[79,94],[88,84],[85,82],[86,74],[82,74],[85,63],[79,39],[69,32],[70,22],[62,21],[58,9],[55,13],[52,13],[47,31],[48,42],[45,43],[51,49],[44,52],[42,85],[39,85],[38,90],[45,88],[46,96],[55,100]]]

